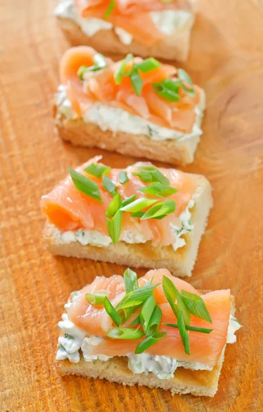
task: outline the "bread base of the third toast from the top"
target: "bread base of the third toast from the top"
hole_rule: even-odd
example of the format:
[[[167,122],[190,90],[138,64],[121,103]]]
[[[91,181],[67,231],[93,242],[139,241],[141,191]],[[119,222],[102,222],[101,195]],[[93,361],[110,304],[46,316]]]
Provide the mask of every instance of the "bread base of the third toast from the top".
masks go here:
[[[184,236],[186,244],[174,252],[172,246],[153,247],[152,242],[128,244],[120,241],[108,247],[82,246],[79,242],[65,242],[60,231],[46,222],[43,231],[43,242],[49,251],[56,255],[72,256],[112,262],[132,267],[168,268],[173,275],[191,276],[201,236],[207,225],[209,209],[213,201],[211,186],[205,176],[199,176],[194,208],[191,209],[194,229]]]

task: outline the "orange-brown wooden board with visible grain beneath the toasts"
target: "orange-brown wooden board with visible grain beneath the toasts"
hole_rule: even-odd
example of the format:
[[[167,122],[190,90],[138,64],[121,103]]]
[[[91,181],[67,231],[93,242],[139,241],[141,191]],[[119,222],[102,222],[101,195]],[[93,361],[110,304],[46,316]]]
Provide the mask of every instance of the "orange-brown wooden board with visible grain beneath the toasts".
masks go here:
[[[102,153],[62,144],[54,132],[51,100],[68,47],[52,16],[55,4],[0,0],[0,410],[262,411],[262,3],[200,1],[184,65],[207,91],[204,134],[185,170],[207,176],[215,201],[191,282],[231,288],[244,325],[227,347],[214,398],[61,378],[54,369],[56,323],[71,290],[124,271],[56,258],[41,244],[41,194],[65,176],[66,165]],[[111,166],[133,162],[102,154]]]

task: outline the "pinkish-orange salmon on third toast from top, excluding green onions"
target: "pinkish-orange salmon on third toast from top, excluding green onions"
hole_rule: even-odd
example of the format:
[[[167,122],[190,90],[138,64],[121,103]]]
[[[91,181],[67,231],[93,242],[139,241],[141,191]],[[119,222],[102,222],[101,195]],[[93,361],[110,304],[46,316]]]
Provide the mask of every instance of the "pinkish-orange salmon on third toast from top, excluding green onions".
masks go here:
[[[88,229],[98,231],[108,236],[106,227],[106,209],[112,200],[111,194],[106,192],[102,186],[102,179],[98,179],[91,174],[84,172],[84,168],[90,163],[98,163],[100,157],[90,159],[76,170],[88,176],[89,179],[97,183],[102,202],[99,202],[81,192],[73,184],[70,176],[60,182],[54,190],[41,198],[41,210],[47,216],[49,222],[53,223],[60,231],[76,231],[77,229]],[[119,183],[119,172],[122,169],[111,169],[108,178],[115,183],[117,190],[123,200],[136,194],[137,198],[145,196],[139,191],[148,183],[144,183],[139,176],[133,176],[133,172],[138,172],[140,166],[152,165],[150,162],[139,162],[129,166],[126,170],[129,181],[124,185]],[[160,172],[170,180],[170,185],[178,192],[167,198],[158,198],[158,201],[173,199],[176,203],[176,210],[168,214],[165,218],[140,220],[131,218],[128,212],[124,212],[122,221],[122,236],[124,231],[133,231],[152,241],[154,246],[168,246],[174,243],[175,238],[170,231],[170,222],[179,223],[179,216],[187,203],[192,198],[198,186],[198,176],[188,175],[179,170],[159,168]]]

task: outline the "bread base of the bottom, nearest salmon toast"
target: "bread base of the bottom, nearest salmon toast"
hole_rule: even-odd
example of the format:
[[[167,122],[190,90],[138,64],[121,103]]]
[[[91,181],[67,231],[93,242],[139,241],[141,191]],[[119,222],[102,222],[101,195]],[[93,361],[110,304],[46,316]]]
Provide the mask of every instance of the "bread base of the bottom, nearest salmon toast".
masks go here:
[[[235,313],[234,297],[231,296],[231,314]],[[78,375],[88,378],[107,379],[110,382],[118,382],[122,385],[144,385],[147,387],[170,390],[174,393],[192,393],[196,396],[214,396],[218,389],[218,380],[222,363],[225,358],[225,348],[218,359],[216,367],[211,371],[184,369],[179,367],[174,371],[174,378],[159,379],[153,374],[133,374],[128,369],[128,361],[125,356],[115,356],[108,361],[86,362],[81,354],[80,362],[71,363],[68,360],[56,361],[55,366],[59,373],[65,375]]]

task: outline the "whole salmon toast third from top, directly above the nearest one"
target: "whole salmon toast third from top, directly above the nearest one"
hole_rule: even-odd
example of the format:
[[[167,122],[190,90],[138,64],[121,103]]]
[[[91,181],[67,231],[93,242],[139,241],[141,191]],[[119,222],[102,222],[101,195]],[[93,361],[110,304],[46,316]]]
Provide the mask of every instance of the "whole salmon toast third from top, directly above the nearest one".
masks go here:
[[[212,205],[204,176],[90,159],[41,198],[43,239],[58,255],[191,276]]]

